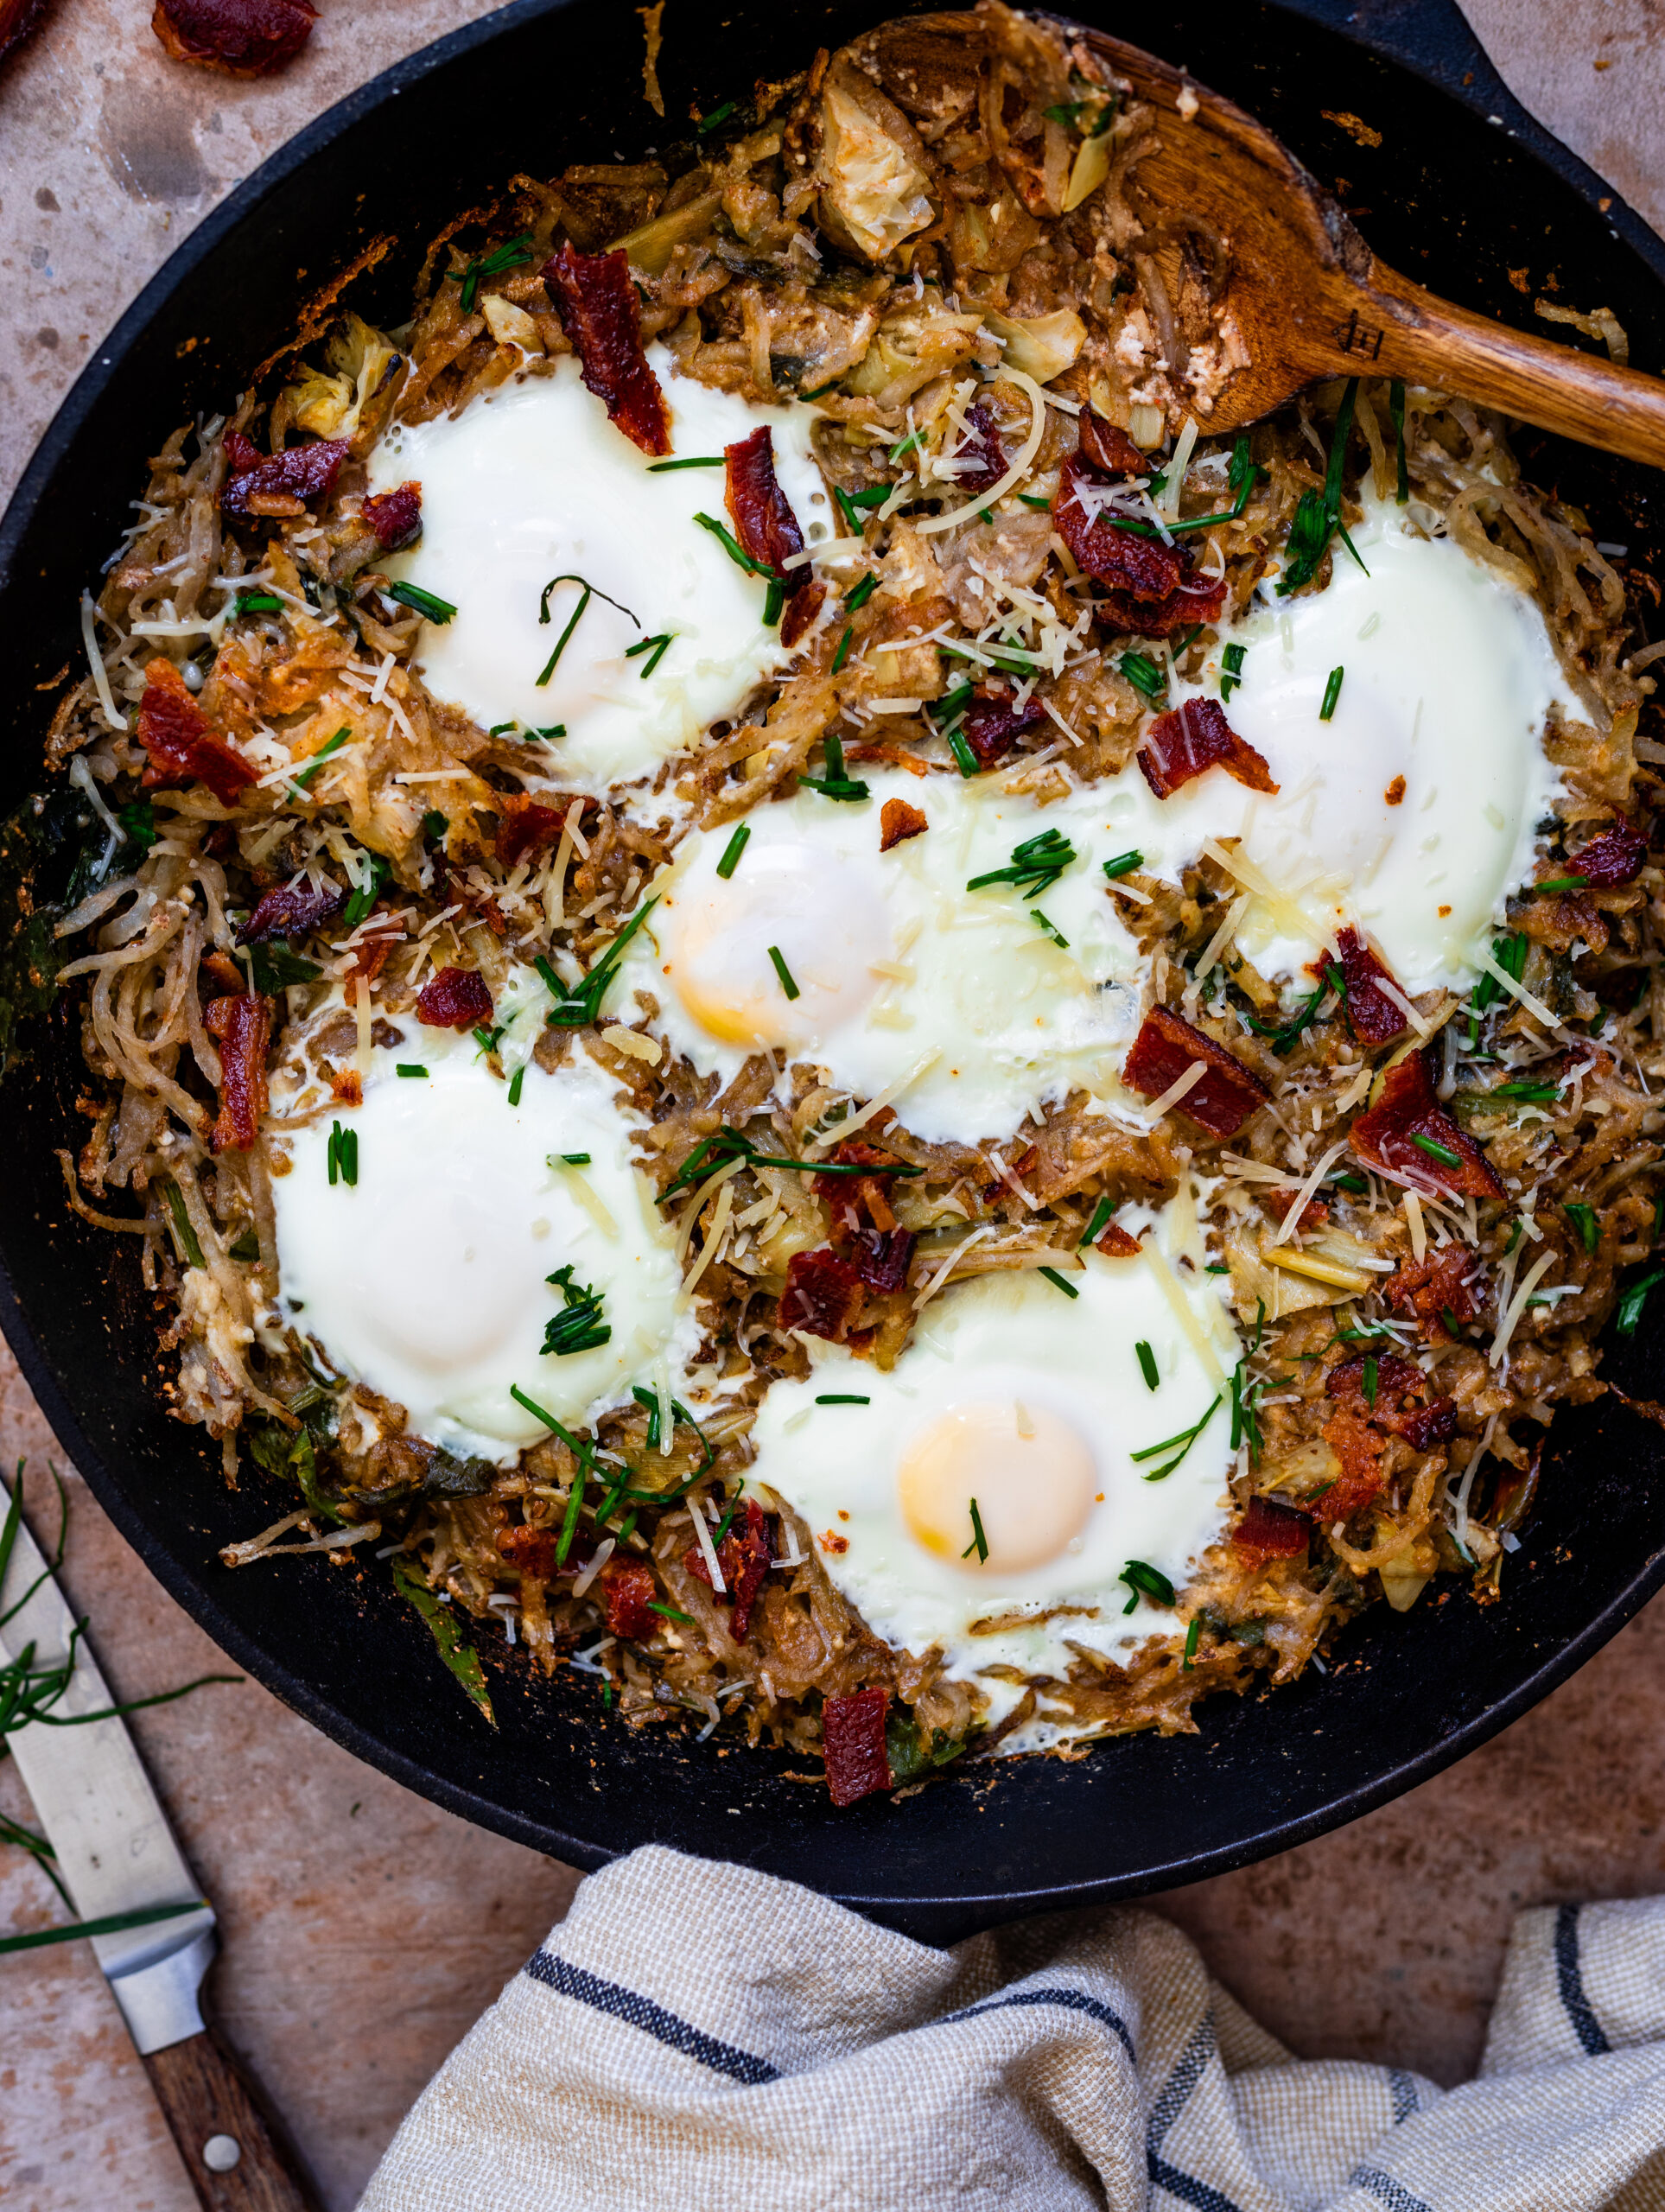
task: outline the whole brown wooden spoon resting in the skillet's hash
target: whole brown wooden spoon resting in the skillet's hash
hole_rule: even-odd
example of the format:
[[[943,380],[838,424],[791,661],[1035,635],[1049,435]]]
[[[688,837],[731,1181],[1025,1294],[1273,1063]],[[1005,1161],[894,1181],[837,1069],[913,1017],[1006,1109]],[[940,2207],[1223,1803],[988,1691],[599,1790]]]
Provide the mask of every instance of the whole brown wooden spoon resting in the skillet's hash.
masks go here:
[[[1092,29],[1077,35],[1159,111],[1156,146],[1132,170],[1137,192],[1176,223],[1210,226],[1232,252],[1225,307],[1249,363],[1229,376],[1205,429],[1238,429],[1320,376],[1397,376],[1665,467],[1665,383],[1424,292],[1375,259],[1318,179],[1243,108],[1139,46]]]

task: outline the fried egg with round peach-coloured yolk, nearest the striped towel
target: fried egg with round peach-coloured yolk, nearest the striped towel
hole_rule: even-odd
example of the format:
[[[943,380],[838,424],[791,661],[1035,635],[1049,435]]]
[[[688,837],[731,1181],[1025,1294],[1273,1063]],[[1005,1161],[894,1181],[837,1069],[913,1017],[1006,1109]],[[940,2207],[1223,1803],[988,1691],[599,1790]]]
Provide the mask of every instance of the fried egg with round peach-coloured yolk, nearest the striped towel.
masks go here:
[[[1075,1298],[1030,1270],[957,1283],[889,1374],[807,1340],[809,1378],[772,1383],[752,1431],[747,1480],[803,1515],[876,1635],[938,1646],[986,1690],[991,1725],[1022,1694],[991,1668],[1068,1677],[1072,1644],[1125,1661],[1174,1635],[1170,1608],[1125,1610],[1123,1573],[1137,1562],[1179,1590],[1229,1506],[1238,1343],[1194,1206],[1119,1219],[1150,1223],[1139,1259],[1086,1252],[1064,1276]],[[1041,1699],[1004,1747],[1079,1732]]]

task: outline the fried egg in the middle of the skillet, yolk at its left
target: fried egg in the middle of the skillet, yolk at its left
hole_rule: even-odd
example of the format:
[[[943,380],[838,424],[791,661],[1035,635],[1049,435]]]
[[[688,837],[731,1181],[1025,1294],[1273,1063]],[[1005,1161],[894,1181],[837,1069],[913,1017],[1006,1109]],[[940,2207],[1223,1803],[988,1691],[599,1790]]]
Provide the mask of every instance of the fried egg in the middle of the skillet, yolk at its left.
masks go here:
[[[725,1082],[774,1051],[856,1097],[893,1095],[933,1144],[1006,1137],[1044,1102],[1112,1084],[1139,953],[1099,867],[1117,849],[1110,787],[1037,807],[999,776],[862,776],[862,801],[800,787],[754,807],[727,874],[734,827],[690,834],[608,1004],[650,995],[672,1048]],[[880,852],[889,799],[929,827]],[[1072,858],[1037,898],[968,889],[1048,832]]]

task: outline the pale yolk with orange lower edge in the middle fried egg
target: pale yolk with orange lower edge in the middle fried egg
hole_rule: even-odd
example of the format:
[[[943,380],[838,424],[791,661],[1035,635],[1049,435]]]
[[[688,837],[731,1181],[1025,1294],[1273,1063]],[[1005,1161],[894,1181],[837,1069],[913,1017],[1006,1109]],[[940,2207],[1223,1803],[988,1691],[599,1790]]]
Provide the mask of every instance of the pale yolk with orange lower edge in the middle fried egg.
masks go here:
[[[688,1015],[747,1048],[809,1044],[860,1018],[880,989],[873,962],[891,951],[867,872],[796,843],[747,854],[734,883],[668,894],[657,936]]]

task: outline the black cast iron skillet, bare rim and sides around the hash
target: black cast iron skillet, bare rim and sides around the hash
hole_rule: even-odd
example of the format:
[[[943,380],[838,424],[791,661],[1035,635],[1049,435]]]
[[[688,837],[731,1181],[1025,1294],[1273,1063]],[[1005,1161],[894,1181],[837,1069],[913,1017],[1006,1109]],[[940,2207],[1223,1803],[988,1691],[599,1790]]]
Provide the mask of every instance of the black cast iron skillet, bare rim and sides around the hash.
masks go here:
[[[1148,11],[1077,0],[1125,38]],[[296,301],[376,234],[396,246],[349,299],[398,319],[425,241],[513,170],[639,157],[756,75],[803,66],[891,9],[884,0],[677,0],[661,77],[672,124],[639,100],[635,9],[517,0],[343,102],[203,221],[75,385],[0,529],[0,712],[11,743],[0,807],[42,781],[53,690],[80,655],[82,586],[126,522],[144,456],[214,409],[294,330]],[[1364,29],[1358,18],[1364,15]],[[1634,358],[1665,358],[1665,248],[1508,100],[1448,0],[1395,0],[1400,60],[1347,0],[1190,0],[1163,18],[1170,60],[1271,124],[1338,192],[1393,265],[1530,327],[1530,299],[1612,305]],[[1355,27],[1324,29],[1320,15]],[[1404,46],[1404,33],[1413,40]],[[1459,104],[1442,80],[1464,100]],[[1495,117],[1486,122],[1484,117]],[[1347,122],[1336,122],[1347,117]],[[1358,119],[1382,133],[1360,139]],[[685,124],[681,126],[685,131]],[[1528,153],[1526,148],[1537,150]],[[1510,270],[1523,272],[1512,283]],[[1548,440],[1532,473],[1585,500],[1596,535],[1645,549],[1647,471]],[[646,555],[648,549],[643,549]],[[794,1763],[604,1719],[593,1677],[553,1683],[493,1666],[491,1732],[378,1571],[283,1559],[228,1573],[217,1551],[285,1511],[250,1471],[232,1495],[199,1429],[168,1420],[159,1314],[117,1241],[64,1208],[53,1148],[77,1144],[80,1055],[57,1011],[0,1084],[0,1325],[49,1420],[126,1537],[252,1674],[413,1790],[579,1867],[639,1843],[792,1876],[929,1940],[1013,1913],[1137,1896],[1243,1865],[1336,1827],[1435,1774],[1570,1674],[1665,1582],[1661,1431],[1612,1398],[1565,1411],[1541,1504],[1481,1610],[1428,1593],[1375,1606],[1276,1697],[1214,1699],[1201,1732],[1137,1736],[1086,1761],[1010,1761],[893,1803],[834,1812]],[[80,1124],[84,1128],[84,1124]],[[124,1241],[122,1241],[124,1243]],[[1658,1332],[1610,1374],[1665,1396]]]

